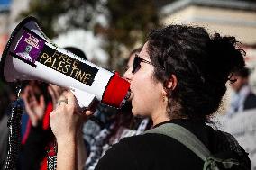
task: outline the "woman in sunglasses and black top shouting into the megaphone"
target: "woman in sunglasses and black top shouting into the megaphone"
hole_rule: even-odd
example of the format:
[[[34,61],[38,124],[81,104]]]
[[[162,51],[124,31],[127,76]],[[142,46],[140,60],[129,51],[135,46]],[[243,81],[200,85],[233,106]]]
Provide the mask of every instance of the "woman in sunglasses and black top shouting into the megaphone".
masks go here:
[[[209,36],[204,28],[170,25],[151,31],[125,76],[131,82],[133,115],[150,117],[153,129],[177,124],[194,134],[212,154],[232,153],[250,169],[245,151],[227,133],[206,125],[218,109],[234,70],[244,67],[234,37]],[[58,169],[76,169],[76,124],[72,94],[51,113],[58,141]],[[87,111],[89,113],[89,111]],[[69,126],[67,127],[67,125]],[[66,127],[65,127],[66,126]],[[64,128],[65,127],[65,128]],[[202,169],[204,161],[177,139],[144,133],[122,139],[102,157],[96,169]]]

